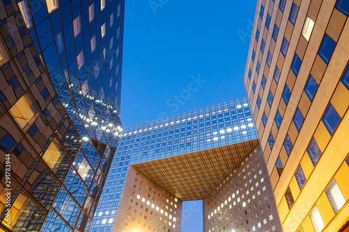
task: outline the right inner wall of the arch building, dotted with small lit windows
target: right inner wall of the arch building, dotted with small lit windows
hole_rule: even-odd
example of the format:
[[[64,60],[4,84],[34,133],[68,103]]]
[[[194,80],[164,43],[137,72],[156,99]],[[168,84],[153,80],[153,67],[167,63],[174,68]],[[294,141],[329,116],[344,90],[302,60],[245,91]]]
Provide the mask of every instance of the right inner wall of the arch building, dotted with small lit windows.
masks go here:
[[[204,231],[282,231],[258,144],[203,201]]]

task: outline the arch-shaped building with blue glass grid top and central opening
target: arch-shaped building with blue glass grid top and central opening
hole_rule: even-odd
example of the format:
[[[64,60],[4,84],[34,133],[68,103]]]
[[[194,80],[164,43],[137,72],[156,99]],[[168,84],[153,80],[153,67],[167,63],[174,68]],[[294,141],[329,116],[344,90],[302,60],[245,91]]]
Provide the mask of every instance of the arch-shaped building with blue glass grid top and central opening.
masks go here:
[[[281,231],[263,159],[247,98],[126,127],[91,231],[181,231],[200,199],[207,232]]]

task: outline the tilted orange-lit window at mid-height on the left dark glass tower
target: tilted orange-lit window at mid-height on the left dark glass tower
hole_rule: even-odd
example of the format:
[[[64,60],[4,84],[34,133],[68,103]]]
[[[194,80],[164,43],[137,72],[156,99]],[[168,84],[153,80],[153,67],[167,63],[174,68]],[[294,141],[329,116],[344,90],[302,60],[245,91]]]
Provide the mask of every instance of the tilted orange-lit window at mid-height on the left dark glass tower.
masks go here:
[[[36,114],[38,113],[38,108],[34,104],[33,100],[28,93],[24,94],[13,107],[10,108],[10,114],[17,124],[24,129],[26,125],[31,125],[34,123]]]

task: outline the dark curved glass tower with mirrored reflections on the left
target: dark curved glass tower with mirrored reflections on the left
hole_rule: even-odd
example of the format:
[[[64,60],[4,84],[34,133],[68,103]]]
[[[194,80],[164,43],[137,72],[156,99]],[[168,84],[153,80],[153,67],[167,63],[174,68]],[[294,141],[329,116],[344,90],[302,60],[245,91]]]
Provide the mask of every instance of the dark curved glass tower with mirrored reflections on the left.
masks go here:
[[[0,231],[89,231],[122,130],[124,1],[0,12]]]

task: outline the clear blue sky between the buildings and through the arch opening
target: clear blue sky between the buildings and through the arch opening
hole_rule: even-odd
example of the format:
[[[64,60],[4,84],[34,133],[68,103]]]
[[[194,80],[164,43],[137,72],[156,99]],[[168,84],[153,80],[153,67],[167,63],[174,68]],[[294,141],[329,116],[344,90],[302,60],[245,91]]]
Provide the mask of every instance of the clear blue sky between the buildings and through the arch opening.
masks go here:
[[[256,3],[126,1],[124,127],[245,96],[243,77]],[[183,232],[202,231],[200,212],[184,223]]]

